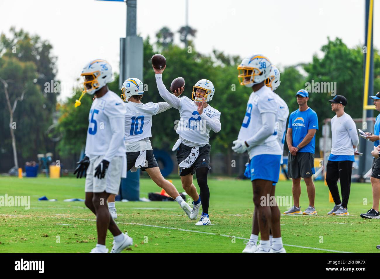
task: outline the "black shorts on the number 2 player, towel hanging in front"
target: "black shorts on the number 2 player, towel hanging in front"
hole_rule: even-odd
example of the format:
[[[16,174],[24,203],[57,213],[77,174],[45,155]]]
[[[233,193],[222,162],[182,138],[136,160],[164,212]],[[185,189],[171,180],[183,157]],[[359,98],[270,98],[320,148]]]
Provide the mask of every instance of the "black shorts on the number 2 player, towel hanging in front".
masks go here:
[[[180,164],[180,162],[184,161],[184,159],[189,156],[190,151],[192,150],[191,147],[188,147],[187,145],[184,145],[183,143],[180,144],[180,146],[177,148],[177,162]],[[194,174],[196,170],[200,167],[207,167],[209,170],[211,170],[210,167],[210,150],[211,145],[206,144],[204,147],[199,148],[199,155],[198,158],[196,158],[195,162],[191,165],[191,167],[182,169],[182,167],[179,167],[179,176],[185,176],[189,173]]]

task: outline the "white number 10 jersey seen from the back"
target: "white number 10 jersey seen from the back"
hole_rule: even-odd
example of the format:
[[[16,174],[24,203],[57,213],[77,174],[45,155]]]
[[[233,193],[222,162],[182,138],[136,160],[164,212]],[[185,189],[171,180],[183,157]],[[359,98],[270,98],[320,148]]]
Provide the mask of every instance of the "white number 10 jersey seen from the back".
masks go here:
[[[152,150],[152,116],[171,108],[167,102],[146,104],[127,102],[125,113],[125,148],[127,152]]]

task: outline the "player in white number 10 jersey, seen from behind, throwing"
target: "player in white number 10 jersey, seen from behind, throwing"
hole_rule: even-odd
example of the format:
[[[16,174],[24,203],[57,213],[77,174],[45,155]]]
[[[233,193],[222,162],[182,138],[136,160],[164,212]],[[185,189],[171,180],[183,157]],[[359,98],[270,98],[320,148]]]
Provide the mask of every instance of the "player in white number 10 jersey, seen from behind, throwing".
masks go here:
[[[176,187],[163,178],[156,158],[153,154],[152,117],[171,108],[167,102],[141,102],[144,95],[141,80],[132,77],[123,83],[122,99],[127,101],[125,108],[125,148],[127,149],[127,171],[141,169],[146,171],[150,178],[170,195],[190,218],[191,208],[178,193]],[[177,98],[177,97],[175,97]]]

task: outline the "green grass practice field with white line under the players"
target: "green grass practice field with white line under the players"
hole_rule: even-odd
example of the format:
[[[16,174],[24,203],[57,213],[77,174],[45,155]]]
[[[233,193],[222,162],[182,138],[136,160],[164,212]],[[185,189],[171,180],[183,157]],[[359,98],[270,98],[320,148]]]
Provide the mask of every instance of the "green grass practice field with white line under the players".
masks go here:
[[[179,191],[180,180],[174,179]],[[302,181],[303,183],[303,181]],[[350,216],[327,216],[333,207],[328,188],[316,182],[317,216],[281,216],[282,239],[287,252],[377,252],[380,220],[359,214],[372,205],[370,184],[351,185]],[[176,202],[116,202],[117,223],[133,238],[135,252],[233,252],[240,253],[252,229],[250,181],[209,179],[211,226],[195,226]],[[160,191],[150,179],[141,179],[140,196]],[[0,252],[90,252],[97,242],[95,216],[83,202],[84,179],[0,177],[0,195],[30,196],[30,209],[0,206]],[[38,201],[46,195],[57,202]],[[276,196],[291,196],[291,182],[277,184]],[[188,197],[188,196],[187,196]],[[368,200],[363,205],[363,199]],[[302,185],[301,209],[308,206]],[[281,206],[280,211],[285,211]],[[145,242],[144,242],[145,240]],[[108,233],[107,247],[112,247]]]

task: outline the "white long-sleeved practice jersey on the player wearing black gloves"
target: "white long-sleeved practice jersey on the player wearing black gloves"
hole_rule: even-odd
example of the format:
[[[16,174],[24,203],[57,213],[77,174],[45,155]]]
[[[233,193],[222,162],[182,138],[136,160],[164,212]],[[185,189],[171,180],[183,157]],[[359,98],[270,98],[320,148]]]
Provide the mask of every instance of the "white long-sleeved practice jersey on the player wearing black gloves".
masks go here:
[[[105,155],[107,161],[114,156],[125,156],[124,125],[120,125],[124,115],[124,103],[116,93],[108,91],[103,97],[95,98],[89,113],[87,156]],[[112,138],[113,135],[115,137]]]

